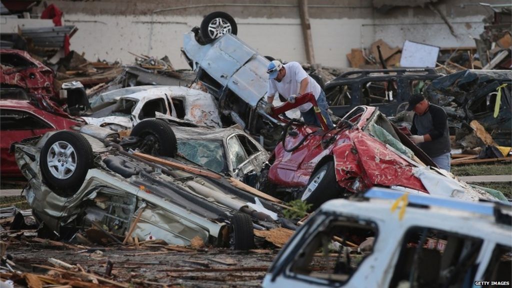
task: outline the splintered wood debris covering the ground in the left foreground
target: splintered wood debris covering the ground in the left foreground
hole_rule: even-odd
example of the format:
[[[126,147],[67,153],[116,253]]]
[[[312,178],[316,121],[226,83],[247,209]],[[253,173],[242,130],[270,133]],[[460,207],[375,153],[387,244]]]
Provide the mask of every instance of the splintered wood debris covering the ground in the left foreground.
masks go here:
[[[31,231],[35,232],[35,231]],[[282,245],[293,231],[261,236]],[[27,287],[259,287],[274,250],[233,251],[161,240],[90,247],[4,230],[1,281]]]

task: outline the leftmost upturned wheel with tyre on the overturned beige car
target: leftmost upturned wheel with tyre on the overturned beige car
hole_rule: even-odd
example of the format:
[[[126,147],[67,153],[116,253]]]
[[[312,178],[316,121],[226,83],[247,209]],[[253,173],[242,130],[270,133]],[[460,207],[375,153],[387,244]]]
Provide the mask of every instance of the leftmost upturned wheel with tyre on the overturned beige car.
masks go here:
[[[41,150],[42,176],[53,192],[73,196],[93,166],[93,150],[83,135],[59,131],[50,136]]]

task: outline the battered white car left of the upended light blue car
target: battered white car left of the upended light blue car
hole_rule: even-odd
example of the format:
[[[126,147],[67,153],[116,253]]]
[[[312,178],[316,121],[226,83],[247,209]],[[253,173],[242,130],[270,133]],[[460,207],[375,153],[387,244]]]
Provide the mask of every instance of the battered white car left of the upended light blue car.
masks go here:
[[[215,100],[208,93],[179,86],[137,86],[106,92],[91,99],[88,124],[114,131],[131,129],[157,113],[207,127],[222,127]]]

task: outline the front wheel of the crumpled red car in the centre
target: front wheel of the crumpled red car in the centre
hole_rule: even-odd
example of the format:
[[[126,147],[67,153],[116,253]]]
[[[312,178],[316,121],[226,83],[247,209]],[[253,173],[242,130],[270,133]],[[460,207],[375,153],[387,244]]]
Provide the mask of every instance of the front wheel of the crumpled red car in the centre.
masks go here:
[[[338,197],[339,192],[334,162],[329,161],[309,178],[308,186],[304,189],[301,200],[311,204],[310,211],[314,211],[322,203]]]

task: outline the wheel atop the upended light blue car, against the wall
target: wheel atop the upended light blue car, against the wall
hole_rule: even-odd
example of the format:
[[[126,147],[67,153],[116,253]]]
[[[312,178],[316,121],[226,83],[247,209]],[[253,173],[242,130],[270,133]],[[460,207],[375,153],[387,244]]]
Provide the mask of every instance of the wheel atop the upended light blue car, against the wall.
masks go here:
[[[237,35],[237,23],[226,12],[213,12],[204,17],[201,22],[201,36],[206,43],[211,43],[224,34]]]

